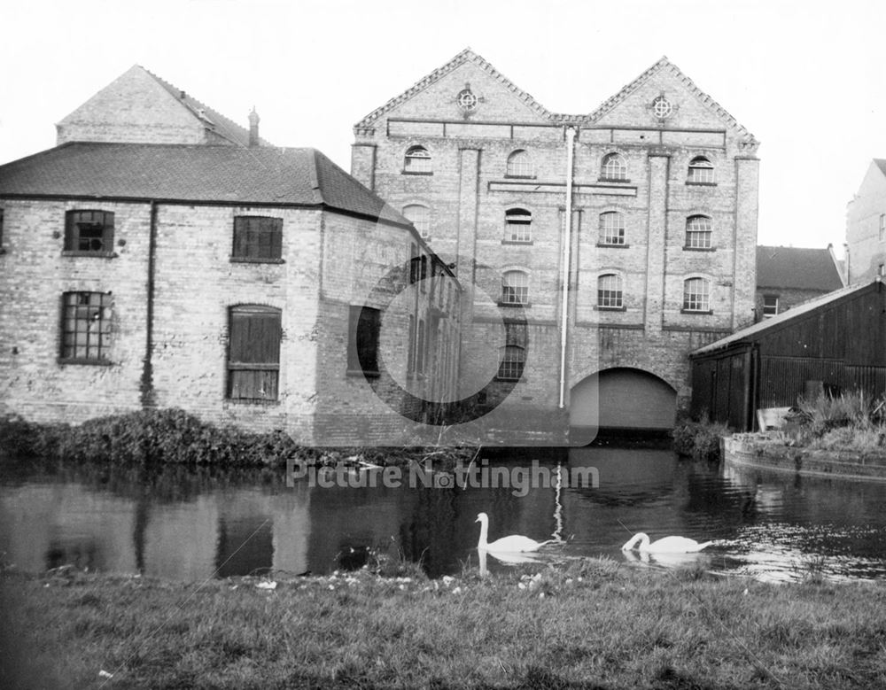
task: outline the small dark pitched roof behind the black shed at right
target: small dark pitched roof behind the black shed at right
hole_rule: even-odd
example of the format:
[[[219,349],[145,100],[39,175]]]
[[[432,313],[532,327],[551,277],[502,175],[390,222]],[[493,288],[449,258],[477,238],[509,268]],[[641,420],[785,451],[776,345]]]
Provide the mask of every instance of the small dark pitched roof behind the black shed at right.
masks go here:
[[[758,288],[819,290],[843,287],[829,249],[805,247],[757,247]]]

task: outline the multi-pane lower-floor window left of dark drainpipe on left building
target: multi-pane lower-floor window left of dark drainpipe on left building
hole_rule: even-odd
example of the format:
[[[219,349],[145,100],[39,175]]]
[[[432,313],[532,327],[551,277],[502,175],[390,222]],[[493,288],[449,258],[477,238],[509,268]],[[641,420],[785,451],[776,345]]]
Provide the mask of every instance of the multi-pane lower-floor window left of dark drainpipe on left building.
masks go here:
[[[111,346],[111,295],[66,292],[62,296],[61,359],[107,362]]]

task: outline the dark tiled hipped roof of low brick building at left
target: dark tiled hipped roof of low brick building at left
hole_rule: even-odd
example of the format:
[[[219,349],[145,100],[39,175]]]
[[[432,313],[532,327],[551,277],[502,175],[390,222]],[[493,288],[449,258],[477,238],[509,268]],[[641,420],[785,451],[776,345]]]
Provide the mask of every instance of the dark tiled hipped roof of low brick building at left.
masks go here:
[[[0,196],[312,205],[409,225],[315,149],[66,143],[0,166]]]

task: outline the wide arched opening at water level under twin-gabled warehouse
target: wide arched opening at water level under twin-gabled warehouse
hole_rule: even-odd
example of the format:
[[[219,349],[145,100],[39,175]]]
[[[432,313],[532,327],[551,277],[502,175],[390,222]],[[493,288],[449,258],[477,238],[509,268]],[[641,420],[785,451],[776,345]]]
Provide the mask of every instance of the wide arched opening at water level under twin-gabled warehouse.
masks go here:
[[[662,433],[672,430],[677,392],[658,376],[635,368],[604,369],[572,387],[571,442],[602,433]]]

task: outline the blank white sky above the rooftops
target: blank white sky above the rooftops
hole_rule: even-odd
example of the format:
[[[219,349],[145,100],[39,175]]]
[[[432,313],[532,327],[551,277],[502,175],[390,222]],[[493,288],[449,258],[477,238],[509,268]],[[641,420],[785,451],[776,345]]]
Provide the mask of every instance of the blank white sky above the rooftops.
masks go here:
[[[886,158],[882,0],[22,0],[0,26],[0,162],[139,64],[261,135],[350,169],[352,128],[466,46],[554,112],[666,55],[762,142],[760,244],[842,251]]]

